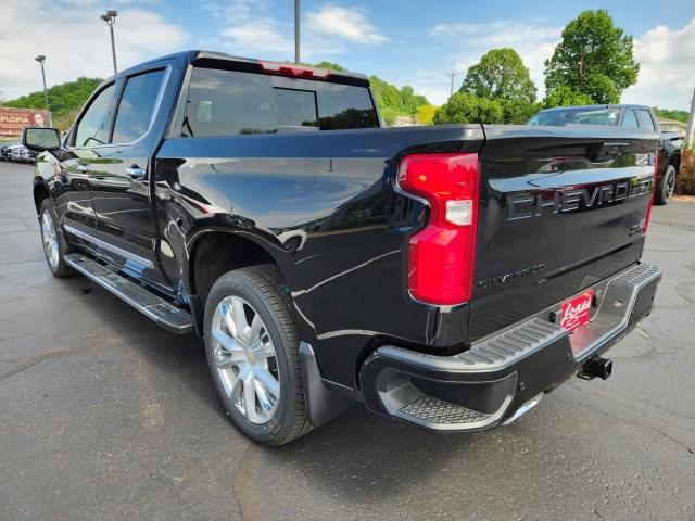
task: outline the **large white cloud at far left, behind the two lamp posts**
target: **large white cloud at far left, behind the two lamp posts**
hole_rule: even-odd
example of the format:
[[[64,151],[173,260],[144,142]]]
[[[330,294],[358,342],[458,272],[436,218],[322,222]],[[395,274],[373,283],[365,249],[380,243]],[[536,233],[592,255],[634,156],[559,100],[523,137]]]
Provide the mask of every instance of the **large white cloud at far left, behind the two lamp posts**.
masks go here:
[[[104,78],[113,74],[111,41],[106,25],[99,20],[101,12],[96,7],[76,16],[61,2],[5,0],[3,25],[11,30],[0,33],[0,98],[13,99],[41,89],[39,66],[34,61],[38,54],[47,56],[49,86],[78,76]],[[180,50],[189,39],[185,30],[159,14],[127,7],[118,10],[114,29],[119,68]]]

